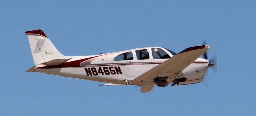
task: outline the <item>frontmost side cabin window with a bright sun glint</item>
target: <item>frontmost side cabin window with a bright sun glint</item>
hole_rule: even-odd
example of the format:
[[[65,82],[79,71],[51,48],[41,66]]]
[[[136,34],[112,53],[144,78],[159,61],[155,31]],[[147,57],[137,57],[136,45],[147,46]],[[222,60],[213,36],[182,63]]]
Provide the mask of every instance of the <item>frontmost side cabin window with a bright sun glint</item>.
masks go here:
[[[171,58],[164,50],[161,48],[152,48],[152,56],[154,59],[168,59]]]

